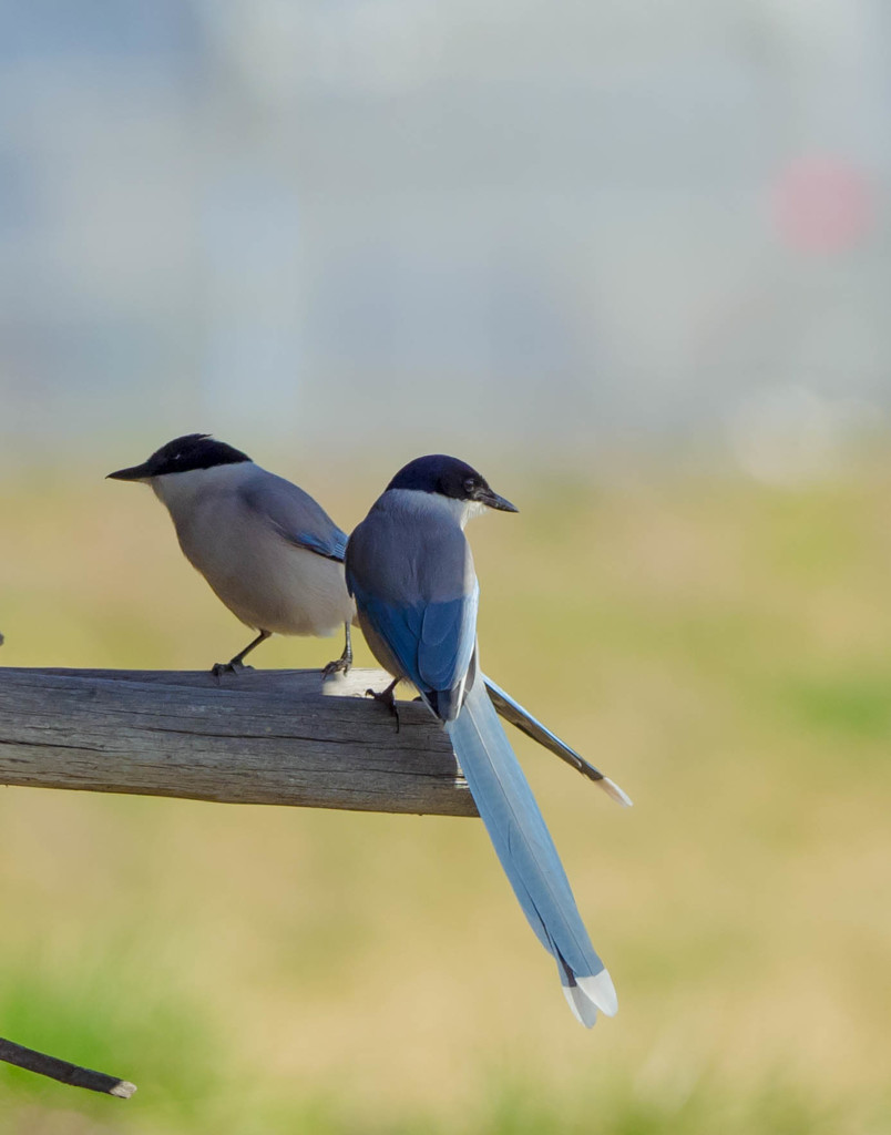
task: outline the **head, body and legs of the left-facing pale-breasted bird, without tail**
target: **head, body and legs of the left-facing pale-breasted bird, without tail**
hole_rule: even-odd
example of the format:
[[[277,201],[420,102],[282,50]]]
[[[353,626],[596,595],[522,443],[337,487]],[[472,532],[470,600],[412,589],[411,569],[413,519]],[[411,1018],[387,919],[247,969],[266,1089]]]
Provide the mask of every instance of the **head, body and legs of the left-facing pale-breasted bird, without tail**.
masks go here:
[[[152,487],[186,560],[258,631],[212,673],[237,671],[270,634],[327,637],[341,627],[344,651],[325,673],[350,669],[355,607],[344,582],[346,533],[308,493],[209,434],[175,438],[141,465],[108,476]]]

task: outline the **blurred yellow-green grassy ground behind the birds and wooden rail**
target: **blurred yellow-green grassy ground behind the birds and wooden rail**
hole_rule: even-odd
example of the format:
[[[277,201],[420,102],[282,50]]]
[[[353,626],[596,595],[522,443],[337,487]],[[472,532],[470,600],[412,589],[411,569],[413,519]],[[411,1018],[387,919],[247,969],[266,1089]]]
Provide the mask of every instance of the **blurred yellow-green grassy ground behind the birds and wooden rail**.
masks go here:
[[[636,801],[511,731],[619,1016],[572,1020],[478,823],[6,789],[0,1035],[140,1091],[0,1065],[2,1135],[891,1129],[889,469],[485,472],[485,666]],[[3,665],[246,640],[144,489],[9,477],[0,523]]]

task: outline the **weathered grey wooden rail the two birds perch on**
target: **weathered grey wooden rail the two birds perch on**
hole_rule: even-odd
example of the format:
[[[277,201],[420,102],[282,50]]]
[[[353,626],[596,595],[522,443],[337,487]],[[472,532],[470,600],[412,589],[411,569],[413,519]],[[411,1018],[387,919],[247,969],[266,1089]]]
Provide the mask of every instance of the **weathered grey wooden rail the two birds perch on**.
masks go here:
[[[477,814],[445,732],[361,695],[383,671],[0,669],[0,784],[447,816]],[[356,696],[359,695],[359,696]]]

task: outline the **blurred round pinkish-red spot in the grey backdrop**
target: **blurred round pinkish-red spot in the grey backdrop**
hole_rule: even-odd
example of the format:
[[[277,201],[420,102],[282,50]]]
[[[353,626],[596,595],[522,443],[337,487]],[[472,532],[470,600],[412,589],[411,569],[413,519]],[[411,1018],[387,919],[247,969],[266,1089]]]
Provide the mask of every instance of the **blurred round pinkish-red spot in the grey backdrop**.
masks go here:
[[[782,239],[801,252],[842,252],[873,222],[869,179],[842,158],[797,158],[773,184],[773,217]]]

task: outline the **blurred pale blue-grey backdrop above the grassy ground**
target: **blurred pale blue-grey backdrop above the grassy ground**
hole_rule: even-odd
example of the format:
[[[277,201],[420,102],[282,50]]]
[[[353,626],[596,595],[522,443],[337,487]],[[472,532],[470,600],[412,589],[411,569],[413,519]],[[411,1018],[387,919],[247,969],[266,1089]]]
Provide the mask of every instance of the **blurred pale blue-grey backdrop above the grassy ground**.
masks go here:
[[[886,0],[0,0],[0,465],[807,474],[891,407],[890,123]]]

